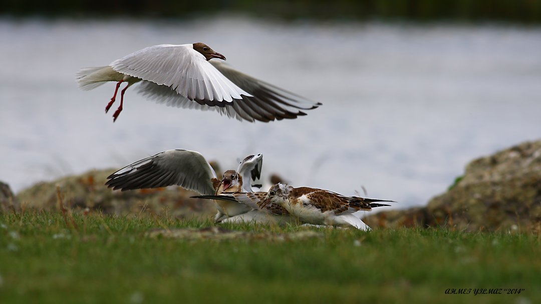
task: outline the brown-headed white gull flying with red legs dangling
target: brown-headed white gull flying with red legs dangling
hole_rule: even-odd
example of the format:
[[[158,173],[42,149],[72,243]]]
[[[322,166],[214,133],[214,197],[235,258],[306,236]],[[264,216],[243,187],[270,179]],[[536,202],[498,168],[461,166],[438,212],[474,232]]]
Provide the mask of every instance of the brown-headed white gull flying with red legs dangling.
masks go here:
[[[232,69],[219,61],[226,57],[203,43],[150,46],[108,66],[87,67],[77,72],[81,89],[91,90],[105,82],[117,82],[115,93],[105,107],[107,113],[122,83],[120,106],[113,121],[122,111],[124,92],[141,82],[138,93],[168,106],[199,110],[216,110],[238,120],[264,121],[293,119],[306,115],[320,103],[311,102],[272,84],[262,82]]]

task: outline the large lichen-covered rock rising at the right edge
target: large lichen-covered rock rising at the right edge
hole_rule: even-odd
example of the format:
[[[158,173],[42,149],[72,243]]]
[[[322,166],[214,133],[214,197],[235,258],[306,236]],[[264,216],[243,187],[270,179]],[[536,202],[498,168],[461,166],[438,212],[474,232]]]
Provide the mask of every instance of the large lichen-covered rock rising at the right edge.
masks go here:
[[[374,214],[373,227],[447,226],[468,231],[538,230],[541,226],[541,140],[476,159],[428,206]]]

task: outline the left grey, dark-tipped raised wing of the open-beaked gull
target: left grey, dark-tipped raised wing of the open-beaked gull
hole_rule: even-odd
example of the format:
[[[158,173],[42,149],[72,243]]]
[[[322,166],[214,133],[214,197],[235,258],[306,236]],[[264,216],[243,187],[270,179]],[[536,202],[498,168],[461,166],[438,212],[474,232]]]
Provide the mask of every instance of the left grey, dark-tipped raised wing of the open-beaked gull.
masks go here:
[[[216,173],[201,153],[168,150],[109,175],[105,185],[122,191],[178,185],[210,195],[215,193],[213,178],[216,178]]]

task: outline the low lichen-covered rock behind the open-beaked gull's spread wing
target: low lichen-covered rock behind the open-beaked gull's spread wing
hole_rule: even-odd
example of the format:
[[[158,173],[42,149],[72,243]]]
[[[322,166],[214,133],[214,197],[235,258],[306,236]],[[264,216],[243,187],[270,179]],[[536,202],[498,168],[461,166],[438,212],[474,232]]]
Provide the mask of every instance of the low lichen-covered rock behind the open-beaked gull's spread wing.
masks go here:
[[[198,195],[181,187],[113,191],[105,186],[115,169],[93,170],[77,176],[64,177],[50,183],[39,183],[17,194],[22,208],[59,210],[58,190],[65,207],[72,210],[100,211],[105,214],[133,215],[140,212],[184,218],[193,215],[210,217],[215,213],[212,201],[192,199]]]

